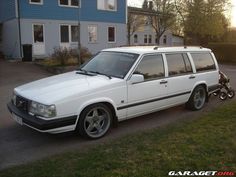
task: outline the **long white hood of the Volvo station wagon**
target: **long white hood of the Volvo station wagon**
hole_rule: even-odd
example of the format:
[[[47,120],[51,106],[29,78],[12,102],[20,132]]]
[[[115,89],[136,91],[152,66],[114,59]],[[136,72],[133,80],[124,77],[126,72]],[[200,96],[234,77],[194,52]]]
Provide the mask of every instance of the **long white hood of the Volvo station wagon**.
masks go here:
[[[52,104],[69,96],[85,95],[88,92],[104,90],[108,85],[121,82],[122,79],[96,75],[77,74],[76,71],[60,74],[15,88],[15,93],[29,100]]]

